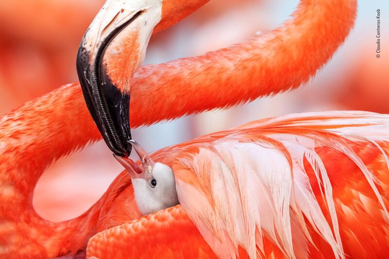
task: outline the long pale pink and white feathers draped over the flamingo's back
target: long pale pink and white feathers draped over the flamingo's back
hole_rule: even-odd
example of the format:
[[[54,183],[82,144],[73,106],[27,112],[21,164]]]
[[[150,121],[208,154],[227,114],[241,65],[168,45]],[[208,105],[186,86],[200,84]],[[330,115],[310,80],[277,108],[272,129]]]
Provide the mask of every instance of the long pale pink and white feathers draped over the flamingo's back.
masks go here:
[[[342,161],[359,169],[358,179],[373,196],[367,203],[382,213],[376,220],[388,219],[382,191],[387,183],[377,179],[356,150],[358,143],[371,145],[370,153],[380,153],[379,165],[387,170],[388,115],[288,115],[203,138],[184,148],[173,169],[181,206],[220,258],[235,258],[239,248],[250,258],[265,255],[263,237],[288,258],[307,258],[314,234],[336,258],[344,258],[342,241],[349,228],[340,229],[339,214],[353,208],[337,196],[342,177],[348,179]],[[329,159],[328,152],[319,152],[322,148],[341,155],[337,169],[323,162]],[[363,203],[362,193],[356,190]],[[367,203],[362,207],[368,211]],[[389,230],[388,224],[382,227]]]

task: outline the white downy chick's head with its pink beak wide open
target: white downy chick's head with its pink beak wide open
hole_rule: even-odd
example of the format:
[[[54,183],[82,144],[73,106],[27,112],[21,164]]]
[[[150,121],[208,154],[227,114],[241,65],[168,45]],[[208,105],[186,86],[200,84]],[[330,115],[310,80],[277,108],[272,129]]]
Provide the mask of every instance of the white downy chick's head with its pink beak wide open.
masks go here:
[[[143,215],[178,204],[173,170],[162,163],[155,163],[134,140],[130,144],[141,158],[141,166],[132,159],[115,155],[130,174],[135,201]]]

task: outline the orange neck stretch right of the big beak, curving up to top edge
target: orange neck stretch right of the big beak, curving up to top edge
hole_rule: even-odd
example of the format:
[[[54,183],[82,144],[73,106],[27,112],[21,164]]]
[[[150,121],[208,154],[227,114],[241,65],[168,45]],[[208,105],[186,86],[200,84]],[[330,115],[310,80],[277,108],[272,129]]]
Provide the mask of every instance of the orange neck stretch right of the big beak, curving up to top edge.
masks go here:
[[[273,31],[201,56],[141,67],[132,79],[131,123],[176,119],[296,88],[332,57],[355,15],[356,0],[301,0],[292,18]]]

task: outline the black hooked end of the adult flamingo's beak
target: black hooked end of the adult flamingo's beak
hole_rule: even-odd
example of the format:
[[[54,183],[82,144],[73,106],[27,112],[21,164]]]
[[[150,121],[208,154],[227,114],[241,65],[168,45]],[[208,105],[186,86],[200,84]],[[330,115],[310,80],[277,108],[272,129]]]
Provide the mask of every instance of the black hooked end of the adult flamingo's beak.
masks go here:
[[[89,113],[107,146],[115,155],[128,157],[132,149],[128,142],[131,139],[129,93],[123,93],[112,83],[99,61],[90,64],[90,53],[82,43],[76,67]]]

